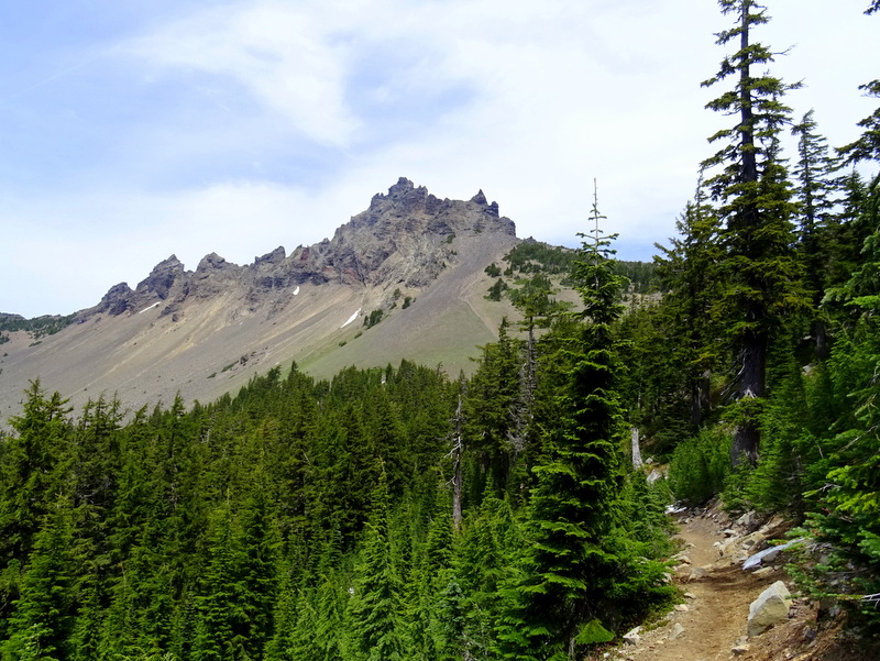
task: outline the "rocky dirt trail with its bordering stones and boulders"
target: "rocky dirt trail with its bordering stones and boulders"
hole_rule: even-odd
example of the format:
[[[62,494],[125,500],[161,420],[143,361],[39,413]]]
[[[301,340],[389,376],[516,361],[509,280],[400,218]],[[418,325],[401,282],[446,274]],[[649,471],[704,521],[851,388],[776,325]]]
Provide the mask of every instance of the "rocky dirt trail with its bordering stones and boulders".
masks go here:
[[[744,561],[783,539],[788,525],[780,518],[760,525],[751,516],[737,522],[713,510],[679,515],[683,550],[673,581],[684,593],[654,625],[635,629],[628,640],[596,659],[608,661],[878,661],[880,650],[867,649],[842,631],[843,614],[822,613],[816,604],[795,596],[782,606],[782,619],[769,629],[749,635],[749,609],[770,586],[782,581],[792,593],[794,583],[784,572],[783,553],[770,557],[756,571]]]

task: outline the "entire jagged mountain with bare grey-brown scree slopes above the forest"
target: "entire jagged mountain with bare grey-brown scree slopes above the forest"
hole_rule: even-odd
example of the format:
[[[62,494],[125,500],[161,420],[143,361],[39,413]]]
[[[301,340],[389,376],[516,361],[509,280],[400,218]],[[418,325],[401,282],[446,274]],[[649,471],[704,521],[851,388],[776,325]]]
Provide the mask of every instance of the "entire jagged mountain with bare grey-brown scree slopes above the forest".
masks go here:
[[[470,370],[507,304],[483,297],[484,273],[517,243],[482,190],[439,199],[400,178],[332,239],[239,266],[210,253],[195,271],[175,255],[133,289],[111,287],[75,324],[34,342],[12,333],[0,359],[0,419],[40,378],[80,406],[99,395],[132,408],[176,394],[207,401],[272,366],[317,376],[408,359]],[[365,328],[364,320],[382,319]]]

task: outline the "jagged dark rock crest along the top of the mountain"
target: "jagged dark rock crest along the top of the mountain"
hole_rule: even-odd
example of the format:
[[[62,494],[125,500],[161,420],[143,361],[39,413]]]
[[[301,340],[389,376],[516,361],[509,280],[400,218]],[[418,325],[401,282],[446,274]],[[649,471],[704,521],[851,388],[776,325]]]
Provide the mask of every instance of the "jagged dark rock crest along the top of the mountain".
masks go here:
[[[100,304],[84,310],[82,318],[136,313],[156,302],[165,304],[167,313],[178,310],[188,297],[210,299],[237,293],[251,308],[270,297],[277,308],[306,283],[419,289],[454,263],[455,238],[483,232],[516,236],[513,221],[501,217],[498,205],[490,203],[482,190],[466,201],[441,200],[402,177],[387,194],[373,196],[370,208],[352,217],[330,240],[300,245],[290,255],[279,246],[245,266],[210,253],[195,272],[185,271],[172,255],[135,289],[125,283],[114,285]]]

